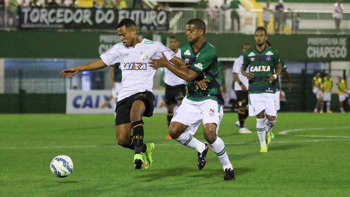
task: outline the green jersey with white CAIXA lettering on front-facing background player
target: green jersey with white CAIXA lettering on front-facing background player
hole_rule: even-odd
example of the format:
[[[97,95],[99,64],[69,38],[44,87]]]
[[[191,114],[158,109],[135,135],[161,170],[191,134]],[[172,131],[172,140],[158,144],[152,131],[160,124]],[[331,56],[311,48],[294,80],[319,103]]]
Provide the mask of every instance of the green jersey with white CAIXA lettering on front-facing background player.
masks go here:
[[[254,79],[249,80],[248,93],[274,93],[276,86],[266,79],[274,74],[275,67],[281,62],[278,52],[266,46],[262,52],[251,48],[243,54],[242,68],[248,67],[249,72],[254,74]]]

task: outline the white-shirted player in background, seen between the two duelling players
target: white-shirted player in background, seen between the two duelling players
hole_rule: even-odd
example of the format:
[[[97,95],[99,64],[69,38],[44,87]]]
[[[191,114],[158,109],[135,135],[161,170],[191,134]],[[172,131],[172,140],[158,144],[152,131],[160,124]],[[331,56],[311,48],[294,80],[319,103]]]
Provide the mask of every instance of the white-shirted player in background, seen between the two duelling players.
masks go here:
[[[176,36],[170,36],[168,45],[170,50],[176,57],[181,58],[181,49],[179,48],[179,40]],[[167,68],[164,68],[164,82],[165,82],[165,105],[167,107],[166,119],[168,128],[174,115],[174,104],[181,105],[183,98],[186,95],[186,81],[174,75]],[[166,139],[171,139],[167,134]]]

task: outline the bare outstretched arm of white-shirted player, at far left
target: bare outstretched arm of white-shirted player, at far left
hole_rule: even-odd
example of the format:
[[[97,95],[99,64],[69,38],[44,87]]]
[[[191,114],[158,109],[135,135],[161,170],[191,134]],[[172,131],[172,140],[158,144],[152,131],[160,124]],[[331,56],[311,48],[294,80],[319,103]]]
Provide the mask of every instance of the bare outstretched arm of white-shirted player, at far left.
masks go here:
[[[98,70],[98,69],[102,69],[106,66],[107,65],[104,64],[104,62],[102,60],[95,60],[89,64],[84,64],[84,65],[64,69],[59,74],[61,76],[64,76],[64,77],[71,78],[74,75],[78,74],[79,72]]]

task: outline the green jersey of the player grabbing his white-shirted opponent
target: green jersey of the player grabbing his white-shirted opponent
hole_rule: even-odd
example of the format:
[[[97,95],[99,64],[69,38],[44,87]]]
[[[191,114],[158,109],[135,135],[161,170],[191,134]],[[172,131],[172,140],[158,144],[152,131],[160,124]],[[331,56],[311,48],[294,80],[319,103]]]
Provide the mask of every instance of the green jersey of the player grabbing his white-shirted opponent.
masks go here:
[[[199,81],[205,78],[209,81],[206,90],[201,90],[200,88],[197,89],[194,84],[195,80],[190,81],[187,84],[187,98],[195,102],[211,99],[224,105],[224,98],[218,82],[219,70],[216,48],[205,41],[195,53],[192,45],[188,43],[181,47],[181,58],[185,60],[188,65],[191,65],[191,70],[198,73],[199,77],[195,80]]]

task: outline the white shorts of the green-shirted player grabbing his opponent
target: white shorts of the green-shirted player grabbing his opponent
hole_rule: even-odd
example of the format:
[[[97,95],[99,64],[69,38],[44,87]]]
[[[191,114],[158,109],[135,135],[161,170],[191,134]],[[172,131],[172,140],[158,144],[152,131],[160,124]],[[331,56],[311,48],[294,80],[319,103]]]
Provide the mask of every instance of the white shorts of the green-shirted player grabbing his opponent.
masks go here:
[[[194,102],[187,99],[182,100],[181,106],[174,113],[171,122],[180,122],[187,125],[185,132],[194,135],[198,129],[200,122],[215,123],[217,125],[216,133],[218,134],[219,125],[224,116],[222,106],[211,99]]]

